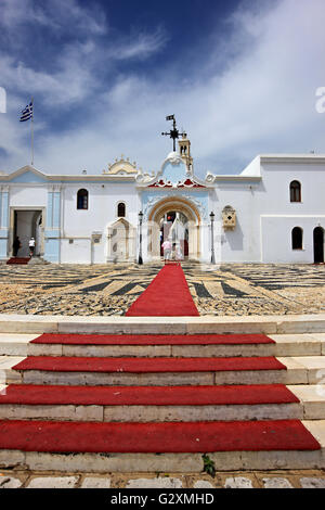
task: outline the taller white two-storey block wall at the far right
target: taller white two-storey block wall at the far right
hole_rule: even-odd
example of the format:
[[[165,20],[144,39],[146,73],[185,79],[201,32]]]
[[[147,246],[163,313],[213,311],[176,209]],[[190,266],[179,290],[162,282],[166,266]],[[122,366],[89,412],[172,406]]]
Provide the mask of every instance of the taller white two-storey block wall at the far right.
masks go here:
[[[262,260],[264,263],[314,262],[313,230],[325,229],[325,164],[262,163],[265,200],[261,211]],[[290,202],[292,180],[301,183],[301,202]],[[303,230],[302,250],[291,248],[291,230]]]

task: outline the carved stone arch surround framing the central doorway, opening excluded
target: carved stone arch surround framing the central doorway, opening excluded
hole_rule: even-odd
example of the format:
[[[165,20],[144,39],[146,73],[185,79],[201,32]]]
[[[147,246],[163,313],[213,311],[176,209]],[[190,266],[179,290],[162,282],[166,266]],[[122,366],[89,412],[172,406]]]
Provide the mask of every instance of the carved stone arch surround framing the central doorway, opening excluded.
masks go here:
[[[181,213],[187,219],[188,259],[200,258],[200,214],[192,202],[182,196],[161,199],[148,213],[147,255],[150,258],[160,258],[160,222],[170,212]]]

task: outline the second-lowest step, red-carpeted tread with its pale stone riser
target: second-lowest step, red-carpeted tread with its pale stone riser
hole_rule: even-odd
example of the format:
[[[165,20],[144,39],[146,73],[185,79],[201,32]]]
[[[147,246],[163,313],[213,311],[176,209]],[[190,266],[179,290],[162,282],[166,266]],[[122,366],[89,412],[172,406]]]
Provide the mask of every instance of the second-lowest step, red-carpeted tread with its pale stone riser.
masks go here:
[[[311,399],[310,395],[310,403]],[[317,401],[317,416],[325,418],[325,401],[320,403],[320,398]],[[103,387],[17,384],[8,386],[0,394],[1,420],[188,422],[303,418],[308,418],[303,403],[284,385]]]

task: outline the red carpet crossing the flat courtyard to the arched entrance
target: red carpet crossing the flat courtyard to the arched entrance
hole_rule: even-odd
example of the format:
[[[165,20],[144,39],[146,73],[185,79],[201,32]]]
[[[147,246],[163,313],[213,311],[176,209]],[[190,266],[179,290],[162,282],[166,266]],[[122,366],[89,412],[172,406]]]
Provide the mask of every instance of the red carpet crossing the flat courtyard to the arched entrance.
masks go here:
[[[198,316],[180,265],[167,264],[148,288],[131,305],[129,317]]]

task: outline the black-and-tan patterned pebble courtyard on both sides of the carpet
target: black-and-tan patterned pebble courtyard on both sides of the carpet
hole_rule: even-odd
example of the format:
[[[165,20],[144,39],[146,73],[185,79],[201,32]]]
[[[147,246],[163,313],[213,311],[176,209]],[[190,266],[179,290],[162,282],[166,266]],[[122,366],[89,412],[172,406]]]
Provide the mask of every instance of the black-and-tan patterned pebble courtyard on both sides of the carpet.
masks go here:
[[[0,313],[125,315],[162,264],[0,265]],[[182,265],[200,315],[325,311],[325,265]],[[172,289],[171,289],[172,292]]]

